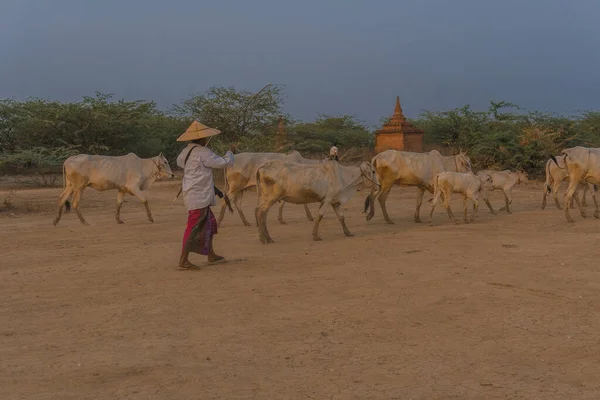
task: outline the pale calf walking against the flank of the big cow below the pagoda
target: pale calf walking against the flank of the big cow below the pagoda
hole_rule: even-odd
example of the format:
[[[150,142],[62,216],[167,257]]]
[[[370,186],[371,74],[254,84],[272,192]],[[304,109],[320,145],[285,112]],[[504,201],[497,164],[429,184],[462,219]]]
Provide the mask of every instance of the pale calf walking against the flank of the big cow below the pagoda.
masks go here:
[[[486,186],[492,185],[492,177],[489,175],[475,175],[472,172],[440,172],[435,177],[434,183],[434,194],[433,204],[431,205],[431,211],[429,212],[429,225],[433,223],[433,211],[435,206],[440,199],[444,196],[444,207],[448,212],[448,217],[458,224],[454,214],[450,209],[450,198],[452,193],[460,193],[463,195],[463,207],[465,209],[464,221],[466,224],[473,222],[477,217],[477,210],[479,209],[479,195]],[[467,219],[467,200],[470,199],[473,202],[473,215],[471,219]]]

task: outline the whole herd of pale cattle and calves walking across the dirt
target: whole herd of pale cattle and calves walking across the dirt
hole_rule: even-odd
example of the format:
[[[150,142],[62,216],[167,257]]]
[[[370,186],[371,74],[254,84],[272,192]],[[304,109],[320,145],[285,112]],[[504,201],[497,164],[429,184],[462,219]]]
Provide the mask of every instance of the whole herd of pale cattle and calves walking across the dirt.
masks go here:
[[[267,229],[269,209],[280,203],[278,220],[283,220],[283,206],[287,203],[304,205],[306,216],[314,222],[313,239],[319,237],[319,223],[325,210],[331,206],[342,225],[346,236],[352,236],[344,220],[342,206],[359,190],[369,188],[371,192],[364,204],[366,219],[369,221],[375,214],[375,200],[379,201],[383,217],[392,224],[386,200],[393,185],[415,186],[418,188],[415,222],[421,222],[419,212],[425,191],[433,194],[429,222],[432,221],[436,204],[442,200],[450,219],[456,222],[450,208],[452,193],[463,196],[464,221],[473,221],[479,208],[479,198],[483,198],[492,213],[496,213],[490,204],[488,195],[493,190],[504,194],[505,205],[499,211],[510,213],[512,189],[521,182],[527,181],[527,174],[522,171],[482,170],[476,174],[472,171],[469,157],[460,153],[453,156],[442,156],[438,151],[429,153],[411,153],[405,151],[386,150],[377,154],[371,162],[362,162],[359,166],[345,166],[332,160],[312,160],[302,157],[297,151],[289,153],[240,153],[234,157],[233,165],[225,170],[225,193],[232,199],[242,223],[249,226],[242,211],[244,192],[256,187],[258,206],[255,219],[258,226],[259,239],[262,243],[272,243],[273,239]],[[68,158],[63,165],[64,191],[58,200],[56,225],[62,215],[63,208],[73,208],[81,223],[87,225],[79,210],[81,196],[86,187],[96,190],[117,190],[116,220],[123,223],[120,210],[126,194],[137,197],[145,206],[148,219],[154,222],[148,200],[142,193],[157,179],[173,178],[173,172],[162,153],[156,157],[142,159],[133,153],[121,157],[77,155]],[[569,187],[565,194],[565,217],[572,222],[570,208],[573,200],[579,206],[580,213],[586,216],[585,196],[588,189],[592,191],[595,212],[600,218],[596,200],[597,186],[600,184],[600,148],[573,147],[565,149],[557,157],[551,157],[546,164],[546,183],[542,209],[546,206],[546,196],[552,193],[556,207],[561,208],[557,198],[561,182],[568,180]],[[583,201],[580,202],[578,189],[583,188]],[[468,200],[473,204],[473,213],[467,218]],[[314,219],[307,204],[319,203],[318,215]],[[223,202],[218,223],[225,216],[226,204]]]

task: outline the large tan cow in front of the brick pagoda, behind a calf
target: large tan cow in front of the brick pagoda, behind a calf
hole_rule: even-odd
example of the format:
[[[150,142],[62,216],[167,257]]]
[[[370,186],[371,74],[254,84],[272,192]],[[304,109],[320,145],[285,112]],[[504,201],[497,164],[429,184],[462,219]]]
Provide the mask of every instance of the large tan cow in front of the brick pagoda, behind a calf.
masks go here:
[[[412,153],[407,151],[386,150],[377,154],[371,160],[371,164],[377,173],[380,187],[373,190],[365,199],[364,212],[367,221],[375,215],[375,199],[379,197],[379,204],[383,212],[383,218],[388,224],[394,222],[390,219],[385,206],[385,201],[394,184],[399,186],[417,186],[417,204],[414,220],[421,222],[419,211],[423,203],[423,194],[427,190],[434,191],[434,181],[437,174],[444,171],[470,172],[471,160],[460,153],[454,156],[442,156],[439,151],[432,150],[429,153]]]

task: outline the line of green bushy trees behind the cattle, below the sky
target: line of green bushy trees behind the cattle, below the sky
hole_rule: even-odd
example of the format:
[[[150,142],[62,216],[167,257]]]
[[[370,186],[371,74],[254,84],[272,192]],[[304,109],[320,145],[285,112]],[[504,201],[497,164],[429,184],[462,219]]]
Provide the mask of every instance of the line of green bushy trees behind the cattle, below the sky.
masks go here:
[[[213,87],[166,111],[153,101],[114,100],[102,93],[79,102],[2,99],[0,171],[44,177],[59,173],[63,161],[78,153],[151,157],[163,152],[174,160],[183,147],[175,139],[194,118],[223,132],[211,142],[218,152],[233,142],[239,151],[296,149],[324,157],[337,142],[347,160],[374,154],[374,130],[354,116],[296,121],[283,112],[283,96],[279,86],[258,95]],[[283,143],[276,135],[281,119],[287,127]],[[469,106],[425,111],[412,122],[425,130],[428,148],[464,150],[476,167],[524,168],[531,175],[543,173],[549,156],[565,147],[600,146],[600,113],[595,111],[565,117],[492,102],[485,111]],[[54,180],[42,181],[48,182]]]

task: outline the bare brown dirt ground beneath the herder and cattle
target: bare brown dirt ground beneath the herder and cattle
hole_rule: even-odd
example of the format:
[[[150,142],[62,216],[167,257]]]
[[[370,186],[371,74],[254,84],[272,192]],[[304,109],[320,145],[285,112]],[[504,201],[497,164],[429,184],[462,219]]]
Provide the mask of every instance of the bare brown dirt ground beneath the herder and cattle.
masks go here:
[[[60,189],[17,191],[35,212],[0,213],[1,399],[600,398],[590,206],[569,224],[532,182],[512,215],[482,205],[454,225],[439,207],[429,227],[412,221],[415,189],[394,188],[388,225],[379,205],[365,221],[363,192],[345,206],[355,237],[328,210],[313,242],[287,205],[261,245],[227,214],[215,243],[232,261],[181,271],[177,189],[148,191],[154,224],[130,197],[117,225],[116,193],[89,189],[91,226],[56,227]]]

